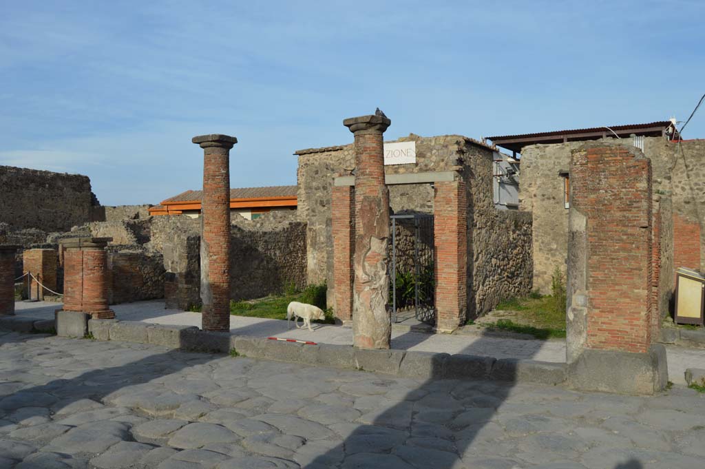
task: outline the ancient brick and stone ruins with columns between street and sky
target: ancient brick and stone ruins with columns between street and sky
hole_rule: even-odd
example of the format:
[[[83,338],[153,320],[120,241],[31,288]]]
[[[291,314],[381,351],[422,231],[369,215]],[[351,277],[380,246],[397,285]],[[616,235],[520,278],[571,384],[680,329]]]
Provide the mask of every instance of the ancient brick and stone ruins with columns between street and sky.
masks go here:
[[[565,382],[637,394],[666,386],[659,341],[674,270],[705,258],[703,243],[694,243],[701,201],[692,193],[701,140],[671,141],[654,123],[629,139],[584,133],[590,137],[554,142],[560,136],[547,133],[537,137],[547,143],[509,136],[494,146],[412,134],[384,142],[384,113],[343,124],[352,143],[296,152],[296,209],[262,209],[249,219],[231,217],[246,203],[231,200],[237,139],[228,135],[192,139],[204,151],[195,215],[102,207],[82,176],[0,169],[14,181],[4,187],[2,314],[13,314],[21,279],[27,298],[63,295],[58,315],[111,319],[111,305],[164,298],[170,308],[202,307],[202,330],[226,332],[231,300],[325,282],[355,348],[388,349],[394,318],[409,305],[417,314],[430,305],[423,320],[452,333],[500,300],[545,291],[549,269],[558,268],[568,275]],[[520,149],[521,159],[502,145],[514,157]],[[22,205],[39,180],[61,188],[62,203],[49,211]],[[516,181],[518,192],[506,189]],[[254,207],[290,204],[256,200]],[[431,261],[419,264],[420,252]],[[407,270],[413,288],[426,279],[415,300],[398,298],[400,265],[416,269]]]

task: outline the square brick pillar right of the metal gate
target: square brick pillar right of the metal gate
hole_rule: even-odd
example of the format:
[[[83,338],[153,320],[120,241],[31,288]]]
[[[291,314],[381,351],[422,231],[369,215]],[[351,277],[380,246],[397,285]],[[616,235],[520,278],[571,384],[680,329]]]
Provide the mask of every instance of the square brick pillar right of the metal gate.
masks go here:
[[[434,184],[436,331],[452,332],[467,313],[467,187]]]

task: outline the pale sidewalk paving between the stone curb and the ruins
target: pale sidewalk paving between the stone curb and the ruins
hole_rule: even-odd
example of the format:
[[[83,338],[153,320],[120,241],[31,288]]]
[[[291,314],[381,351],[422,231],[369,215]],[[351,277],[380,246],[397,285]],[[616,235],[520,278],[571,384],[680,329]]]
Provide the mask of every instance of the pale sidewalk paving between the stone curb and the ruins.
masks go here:
[[[61,303],[35,302],[15,304],[18,316],[53,319]],[[200,327],[201,315],[197,312],[167,310],[163,300],[149,300],[114,305],[116,317],[121,321],[142,321],[153,324]],[[338,345],[353,343],[350,327],[315,324],[314,332],[305,329],[288,329],[286,321],[257,317],[231,316],[231,333],[243,336],[280,336],[290,339],[315,341]],[[450,354],[481,355],[497,359],[520,358],[544,362],[565,362],[565,341],[539,341],[511,339],[508,337],[477,335],[426,334],[423,332],[392,329],[392,348],[409,351],[443,352]],[[670,381],[685,384],[687,368],[705,367],[705,349],[666,347]]]

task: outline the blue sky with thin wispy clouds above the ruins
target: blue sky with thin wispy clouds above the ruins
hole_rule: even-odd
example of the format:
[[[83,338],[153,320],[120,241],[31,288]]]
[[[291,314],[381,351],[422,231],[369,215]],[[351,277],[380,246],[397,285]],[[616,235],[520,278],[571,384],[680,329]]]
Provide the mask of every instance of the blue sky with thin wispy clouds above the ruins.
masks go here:
[[[494,5],[497,3],[496,5]],[[705,2],[5,1],[0,164],[90,176],[104,205],[296,183],[343,118],[486,135],[685,120],[705,92]],[[705,106],[685,138],[705,138]]]

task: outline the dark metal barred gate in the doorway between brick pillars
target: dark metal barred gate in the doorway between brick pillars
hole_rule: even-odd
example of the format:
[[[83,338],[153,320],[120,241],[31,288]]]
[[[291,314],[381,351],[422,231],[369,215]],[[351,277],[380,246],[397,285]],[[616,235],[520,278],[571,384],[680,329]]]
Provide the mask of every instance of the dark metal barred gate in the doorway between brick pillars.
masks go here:
[[[435,321],[434,217],[392,215],[388,264],[389,301],[394,322],[412,316]]]

